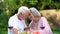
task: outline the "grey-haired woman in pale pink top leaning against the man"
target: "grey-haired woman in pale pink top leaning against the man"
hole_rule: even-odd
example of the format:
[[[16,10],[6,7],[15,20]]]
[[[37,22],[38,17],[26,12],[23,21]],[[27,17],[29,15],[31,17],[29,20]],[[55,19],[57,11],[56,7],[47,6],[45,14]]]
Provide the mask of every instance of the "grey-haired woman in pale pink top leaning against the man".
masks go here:
[[[41,17],[40,13],[35,8],[30,8],[29,18],[32,20],[29,27],[32,30],[40,30],[41,34],[52,34],[51,28],[45,17]]]

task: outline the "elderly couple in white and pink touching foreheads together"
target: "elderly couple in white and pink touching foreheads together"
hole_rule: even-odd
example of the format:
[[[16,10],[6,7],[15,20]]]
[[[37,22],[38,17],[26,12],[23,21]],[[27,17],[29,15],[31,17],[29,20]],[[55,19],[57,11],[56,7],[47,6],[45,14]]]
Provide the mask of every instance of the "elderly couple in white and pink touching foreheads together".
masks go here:
[[[26,26],[25,19],[31,19],[29,26]],[[40,30],[40,34],[52,34],[52,30],[45,17],[41,17],[38,10],[34,7],[28,9],[22,6],[18,9],[18,13],[10,17],[8,21],[8,34],[18,34],[18,31],[23,31],[25,28],[32,30]]]

